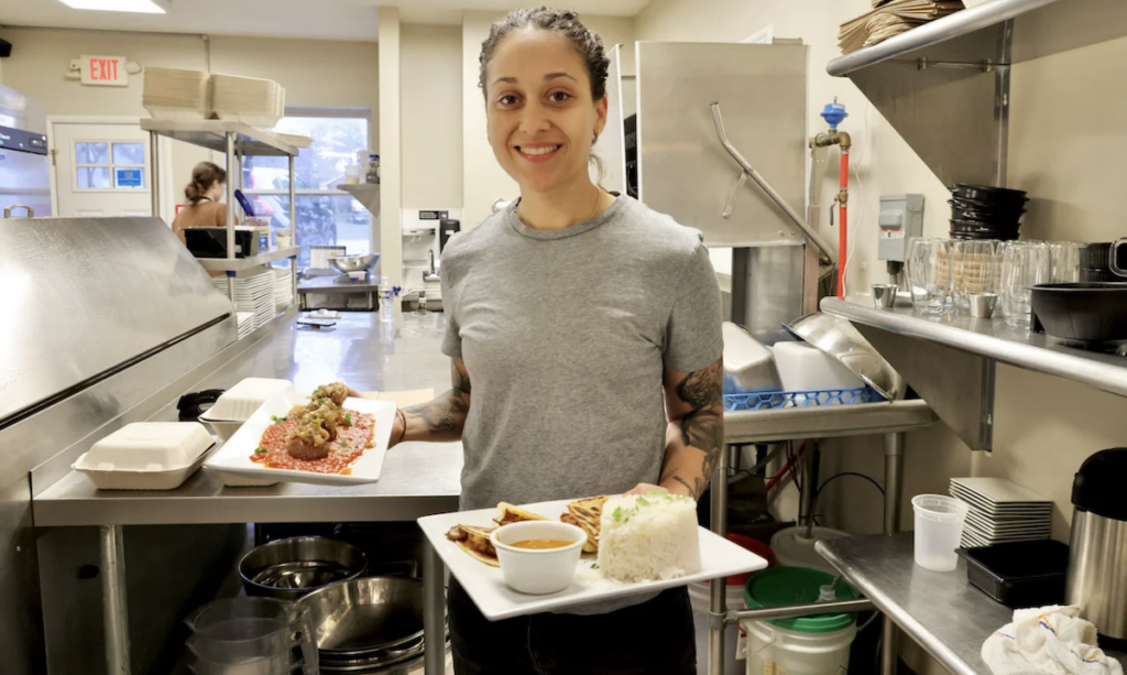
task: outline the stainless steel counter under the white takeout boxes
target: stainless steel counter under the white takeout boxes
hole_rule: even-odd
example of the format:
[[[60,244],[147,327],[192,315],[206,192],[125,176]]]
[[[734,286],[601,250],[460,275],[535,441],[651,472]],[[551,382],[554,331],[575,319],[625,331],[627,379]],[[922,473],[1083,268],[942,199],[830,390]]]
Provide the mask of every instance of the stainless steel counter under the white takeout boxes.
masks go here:
[[[194,389],[229,388],[243,378],[283,378],[299,390],[343,380],[363,391],[450,388],[450,359],[440,349],[441,313],[381,323],[343,312],[335,328],[307,329],[292,319]],[[152,417],[176,419],[175,401]],[[278,483],[225,488],[206,469],[169,491],[101,491],[71,472],[33,500],[38,527],[205,523],[409,521],[454,510],[461,494],[460,443],[407,443],[390,451],[376,483],[326,487]]]

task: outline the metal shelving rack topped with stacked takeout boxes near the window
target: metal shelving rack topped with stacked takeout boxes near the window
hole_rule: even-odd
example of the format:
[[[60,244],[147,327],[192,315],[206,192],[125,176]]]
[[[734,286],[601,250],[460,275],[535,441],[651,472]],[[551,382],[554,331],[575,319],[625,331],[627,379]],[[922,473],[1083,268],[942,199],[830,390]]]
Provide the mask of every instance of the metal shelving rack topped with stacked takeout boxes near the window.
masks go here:
[[[277,251],[269,251],[251,258],[234,257],[234,190],[242,187],[243,157],[285,157],[290,161],[290,232],[293,243],[299,245],[296,220],[296,193],[294,185],[293,160],[298,157],[298,148],[285,142],[278,134],[255,128],[241,122],[222,119],[142,119],[141,130],[149,132],[149,152],[152,161],[152,184],[159,185],[160,144],[158,136],[167,136],[183,143],[206,148],[224,153],[227,158],[227,258],[201,259],[204,269],[227,273],[227,292],[234,302],[234,278],[239,270],[274,260],[290,258],[290,277],[293,286],[293,297],[298,297],[298,254],[300,246],[293,246]],[[160,217],[160,190],[152,193],[152,215]]]

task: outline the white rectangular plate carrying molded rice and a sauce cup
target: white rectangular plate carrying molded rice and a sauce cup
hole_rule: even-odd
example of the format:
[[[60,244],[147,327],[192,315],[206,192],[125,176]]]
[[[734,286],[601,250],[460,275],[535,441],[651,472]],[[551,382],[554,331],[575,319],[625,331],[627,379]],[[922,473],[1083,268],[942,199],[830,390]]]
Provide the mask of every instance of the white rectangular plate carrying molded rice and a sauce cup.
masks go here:
[[[573,500],[543,501],[524,508],[534,514],[558,521],[567,513],[567,505]],[[767,566],[767,561],[755,553],[722,539],[703,527],[700,529],[701,566],[695,575],[659,581],[641,581],[620,584],[605,579],[592,569],[594,558],[583,558],[576,567],[576,576],[566,590],[551,595],[525,595],[505,585],[500,569],[489,567],[460,549],[458,544],[446,539],[446,532],[455,525],[492,525],[497,515],[496,508],[467,510],[461,513],[440,514],[419,518],[423,534],[442,557],[465,592],[473,598],[478,610],[490,621],[539,614],[562,607],[582,605],[591,602],[606,601],[614,597],[657,593],[666,588],[687,586],[707,579],[719,579],[730,575],[757,571]]]

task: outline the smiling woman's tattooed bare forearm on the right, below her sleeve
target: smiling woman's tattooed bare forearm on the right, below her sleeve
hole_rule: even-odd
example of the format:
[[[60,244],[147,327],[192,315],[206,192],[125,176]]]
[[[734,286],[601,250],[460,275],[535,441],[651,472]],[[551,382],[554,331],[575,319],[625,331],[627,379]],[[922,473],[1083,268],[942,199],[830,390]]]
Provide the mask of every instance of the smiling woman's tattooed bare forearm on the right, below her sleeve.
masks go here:
[[[722,359],[694,373],[665,371],[669,414],[660,487],[693,499],[712,478],[724,447]]]

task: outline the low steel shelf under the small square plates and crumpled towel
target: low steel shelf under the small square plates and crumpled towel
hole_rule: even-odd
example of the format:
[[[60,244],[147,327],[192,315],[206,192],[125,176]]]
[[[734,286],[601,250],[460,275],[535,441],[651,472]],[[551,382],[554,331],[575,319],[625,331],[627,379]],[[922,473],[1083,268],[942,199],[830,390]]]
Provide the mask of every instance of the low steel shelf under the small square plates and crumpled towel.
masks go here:
[[[872,534],[819,541],[815,550],[948,670],[991,675],[983,642],[1011,621],[1013,610],[971,586],[961,558],[950,572],[917,567],[913,541],[911,532]]]

